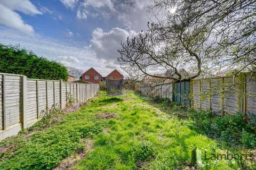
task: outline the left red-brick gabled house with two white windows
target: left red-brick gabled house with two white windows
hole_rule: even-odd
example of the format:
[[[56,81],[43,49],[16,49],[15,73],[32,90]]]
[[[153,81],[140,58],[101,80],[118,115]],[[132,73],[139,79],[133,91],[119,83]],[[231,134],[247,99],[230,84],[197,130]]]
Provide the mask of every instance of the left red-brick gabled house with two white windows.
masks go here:
[[[81,77],[82,77],[82,81],[87,81],[91,83],[100,83],[102,76],[98,71],[96,71],[95,69],[93,69],[93,67],[91,67],[91,69],[84,72]]]

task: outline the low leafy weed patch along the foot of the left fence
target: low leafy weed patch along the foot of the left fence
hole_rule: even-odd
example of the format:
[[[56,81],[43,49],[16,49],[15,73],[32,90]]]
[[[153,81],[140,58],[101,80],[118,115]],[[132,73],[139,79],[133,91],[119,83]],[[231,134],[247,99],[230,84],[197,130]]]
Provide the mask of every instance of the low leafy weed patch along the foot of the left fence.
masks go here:
[[[105,123],[92,114],[95,111],[90,106],[82,111],[63,114],[52,107],[34,126],[0,142],[0,147],[13,146],[0,155],[0,169],[52,169],[63,158],[83,150],[81,139],[98,134]],[[30,132],[34,133],[23,138]]]

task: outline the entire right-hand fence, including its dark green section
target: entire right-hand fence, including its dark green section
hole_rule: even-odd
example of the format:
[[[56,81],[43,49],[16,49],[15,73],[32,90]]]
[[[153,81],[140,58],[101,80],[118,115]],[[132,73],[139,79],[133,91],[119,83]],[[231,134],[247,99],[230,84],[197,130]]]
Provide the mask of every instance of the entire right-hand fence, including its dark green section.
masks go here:
[[[136,90],[146,96],[160,96],[192,108],[215,114],[245,113],[256,117],[256,75],[190,80],[149,87],[137,84]],[[247,81],[249,80],[249,81]]]

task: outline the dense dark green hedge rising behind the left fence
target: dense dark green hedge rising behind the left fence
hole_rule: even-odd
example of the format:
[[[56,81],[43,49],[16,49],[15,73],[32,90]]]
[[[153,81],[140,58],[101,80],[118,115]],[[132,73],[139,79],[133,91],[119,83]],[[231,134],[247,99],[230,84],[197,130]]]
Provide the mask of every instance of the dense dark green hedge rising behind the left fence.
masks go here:
[[[26,49],[0,44],[0,72],[22,74],[30,79],[67,81],[67,68],[56,61],[38,57]]]

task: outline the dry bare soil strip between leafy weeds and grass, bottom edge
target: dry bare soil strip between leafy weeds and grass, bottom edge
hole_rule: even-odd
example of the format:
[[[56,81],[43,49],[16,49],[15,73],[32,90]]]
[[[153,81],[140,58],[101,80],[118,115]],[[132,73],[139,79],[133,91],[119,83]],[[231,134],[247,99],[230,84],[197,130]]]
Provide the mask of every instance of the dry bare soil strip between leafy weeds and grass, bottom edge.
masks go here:
[[[93,148],[93,141],[91,139],[86,139],[86,147],[83,150],[76,152],[76,154],[69,156],[66,159],[63,159],[61,163],[58,164],[54,170],[68,170],[72,169],[75,163],[83,159],[88,152]]]

